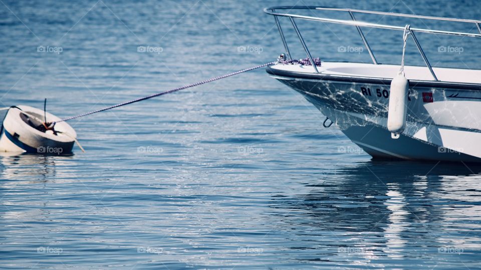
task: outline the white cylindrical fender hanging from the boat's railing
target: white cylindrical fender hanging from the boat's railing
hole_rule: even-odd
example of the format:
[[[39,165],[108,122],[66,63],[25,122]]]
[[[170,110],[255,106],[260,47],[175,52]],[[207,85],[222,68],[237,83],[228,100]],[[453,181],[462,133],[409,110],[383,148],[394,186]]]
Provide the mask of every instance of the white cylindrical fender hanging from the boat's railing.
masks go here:
[[[387,114],[387,129],[393,133],[393,139],[399,138],[399,134],[406,126],[408,91],[409,81],[404,77],[404,74],[399,73],[391,81]]]

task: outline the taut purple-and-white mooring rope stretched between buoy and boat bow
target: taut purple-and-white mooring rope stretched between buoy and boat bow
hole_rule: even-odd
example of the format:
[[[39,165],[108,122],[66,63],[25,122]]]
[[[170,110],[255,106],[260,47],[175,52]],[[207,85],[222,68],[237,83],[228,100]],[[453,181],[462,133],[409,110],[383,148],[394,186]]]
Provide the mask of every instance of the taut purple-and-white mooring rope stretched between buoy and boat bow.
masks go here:
[[[145,97],[137,98],[137,99],[130,100],[130,101],[127,101],[127,102],[122,102],[122,103],[119,103],[119,104],[116,104],[116,105],[112,105],[112,106],[109,106],[109,107],[106,107],[106,108],[103,108],[103,109],[98,109],[98,110],[94,110],[94,111],[91,111],[91,112],[82,113],[82,114],[79,114],[79,115],[76,115],[76,116],[64,118],[64,119],[59,120],[57,122],[68,121],[68,120],[72,120],[72,119],[75,119],[75,118],[79,118],[79,117],[87,116],[87,115],[90,115],[90,114],[94,114],[94,113],[97,113],[97,112],[110,110],[110,109],[113,109],[113,108],[121,107],[121,106],[128,105],[128,104],[132,104],[132,103],[139,102],[139,101],[142,101],[142,100],[147,100],[147,99],[150,99],[150,98],[153,98],[153,97],[157,97],[157,96],[161,96],[161,95],[165,95],[165,94],[170,94],[170,93],[177,92],[177,91],[180,91],[180,90],[183,90],[183,89],[186,89],[186,88],[194,87],[194,86],[201,85],[201,84],[208,83],[208,82],[213,82],[213,81],[220,80],[220,79],[223,79],[223,78],[227,78],[227,77],[230,77],[230,76],[234,76],[234,75],[237,75],[237,74],[240,74],[240,73],[244,73],[244,72],[248,72],[248,71],[255,70],[255,69],[258,69],[258,68],[262,68],[262,67],[265,67],[265,66],[269,66],[269,65],[272,65],[272,64],[275,64],[275,63],[276,62],[270,62],[270,63],[266,63],[266,64],[263,64],[263,65],[255,66],[255,67],[252,67],[252,68],[247,68],[247,69],[235,71],[235,72],[228,73],[228,74],[225,74],[225,75],[222,75],[222,76],[213,77],[213,78],[210,78],[208,80],[199,81],[199,82],[196,82],[196,83],[184,85],[184,86],[181,86],[181,87],[178,87],[178,88],[175,88],[175,89],[172,89],[172,90],[168,90],[168,91],[165,91],[165,92],[152,94],[152,95],[149,95],[149,96],[145,96]]]

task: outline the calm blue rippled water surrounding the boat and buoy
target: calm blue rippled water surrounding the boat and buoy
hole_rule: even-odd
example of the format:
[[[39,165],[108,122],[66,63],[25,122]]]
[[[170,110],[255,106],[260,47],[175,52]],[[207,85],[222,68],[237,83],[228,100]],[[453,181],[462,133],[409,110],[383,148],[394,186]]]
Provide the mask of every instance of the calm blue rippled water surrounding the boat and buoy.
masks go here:
[[[294,4],[467,19],[481,7],[3,0],[0,105],[46,97],[71,116],[273,61],[282,45],[262,8]],[[362,46],[355,29],[300,27],[323,60],[370,61],[338,52]],[[399,35],[366,35],[380,62],[400,61]],[[435,66],[481,65],[471,39],[419,39]],[[412,45],[408,64],[422,64]],[[263,70],[73,120],[86,153],[0,157],[0,268],[480,267],[481,167],[372,162],[323,120]]]

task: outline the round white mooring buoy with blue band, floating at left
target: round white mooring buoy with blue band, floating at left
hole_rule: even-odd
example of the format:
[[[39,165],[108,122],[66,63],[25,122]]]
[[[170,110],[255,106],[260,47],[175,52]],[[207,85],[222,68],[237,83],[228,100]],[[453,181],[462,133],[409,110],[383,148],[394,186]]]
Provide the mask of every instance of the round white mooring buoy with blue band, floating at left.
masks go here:
[[[77,133],[61,118],[30,106],[12,106],[0,133],[0,152],[46,155],[72,153]]]

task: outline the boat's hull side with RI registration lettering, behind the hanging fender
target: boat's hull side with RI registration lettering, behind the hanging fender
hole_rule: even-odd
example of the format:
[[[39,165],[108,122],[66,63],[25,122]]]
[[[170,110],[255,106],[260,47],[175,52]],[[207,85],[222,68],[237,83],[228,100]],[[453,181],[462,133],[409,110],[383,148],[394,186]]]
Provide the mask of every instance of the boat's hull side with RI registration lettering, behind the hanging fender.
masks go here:
[[[481,162],[481,91],[456,85],[410,85],[406,128],[387,130],[389,80],[280,75],[376,159]]]

